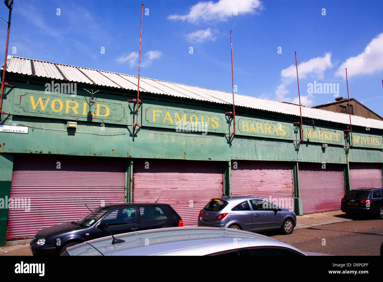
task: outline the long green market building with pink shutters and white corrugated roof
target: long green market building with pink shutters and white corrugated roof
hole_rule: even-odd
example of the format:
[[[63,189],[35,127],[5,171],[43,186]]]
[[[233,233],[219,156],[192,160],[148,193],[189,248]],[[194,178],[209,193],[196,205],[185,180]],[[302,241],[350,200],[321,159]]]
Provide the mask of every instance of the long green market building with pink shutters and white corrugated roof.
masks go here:
[[[220,195],[296,214],[382,187],[383,122],[195,86],[8,56],[0,246],[118,201],[169,203],[185,225]],[[137,119],[138,117],[138,119]],[[235,131],[235,135],[232,134]],[[303,141],[299,141],[303,140]],[[350,146],[351,145],[351,146]]]

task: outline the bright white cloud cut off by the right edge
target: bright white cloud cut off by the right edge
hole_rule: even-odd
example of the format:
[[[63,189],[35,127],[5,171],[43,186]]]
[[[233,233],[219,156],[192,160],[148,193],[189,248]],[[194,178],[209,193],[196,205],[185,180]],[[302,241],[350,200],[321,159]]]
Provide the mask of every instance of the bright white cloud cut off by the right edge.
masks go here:
[[[368,43],[363,53],[348,58],[336,71],[336,76],[346,78],[358,74],[372,74],[375,71],[383,70],[383,33]]]

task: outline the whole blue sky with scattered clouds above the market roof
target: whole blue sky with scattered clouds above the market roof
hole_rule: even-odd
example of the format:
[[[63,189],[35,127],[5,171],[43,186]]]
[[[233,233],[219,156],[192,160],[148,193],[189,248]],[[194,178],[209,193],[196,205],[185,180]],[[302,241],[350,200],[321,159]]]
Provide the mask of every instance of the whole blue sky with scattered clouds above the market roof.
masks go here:
[[[347,67],[350,97],[383,116],[381,0],[14,2],[8,54],[137,75],[144,4],[143,77],[231,92],[232,30],[239,94],[297,103],[296,51],[303,105],[347,97]],[[3,49],[6,35],[2,21]],[[309,94],[314,81],[337,93]]]

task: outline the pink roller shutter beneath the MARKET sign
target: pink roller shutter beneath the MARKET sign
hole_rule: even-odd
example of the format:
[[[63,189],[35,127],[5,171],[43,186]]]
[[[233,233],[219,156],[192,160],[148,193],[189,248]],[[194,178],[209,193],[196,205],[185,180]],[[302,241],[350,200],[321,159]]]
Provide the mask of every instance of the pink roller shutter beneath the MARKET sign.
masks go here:
[[[338,165],[299,163],[299,195],[303,213],[340,209],[344,196],[343,170]]]

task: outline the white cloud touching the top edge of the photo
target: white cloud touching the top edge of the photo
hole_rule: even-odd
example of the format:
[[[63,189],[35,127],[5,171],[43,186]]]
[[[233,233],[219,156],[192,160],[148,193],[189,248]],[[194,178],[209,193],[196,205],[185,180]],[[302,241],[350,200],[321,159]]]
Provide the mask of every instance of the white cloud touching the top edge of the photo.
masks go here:
[[[170,15],[170,20],[188,20],[197,23],[199,20],[210,21],[220,20],[226,21],[229,17],[246,13],[255,13],[262,9],[260,0],[219,0],[214,3],[199,2],[190,8],[187,15]]]

